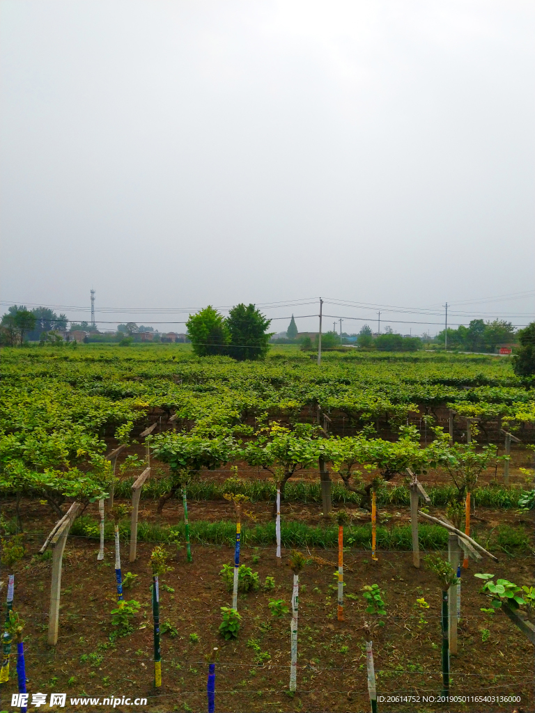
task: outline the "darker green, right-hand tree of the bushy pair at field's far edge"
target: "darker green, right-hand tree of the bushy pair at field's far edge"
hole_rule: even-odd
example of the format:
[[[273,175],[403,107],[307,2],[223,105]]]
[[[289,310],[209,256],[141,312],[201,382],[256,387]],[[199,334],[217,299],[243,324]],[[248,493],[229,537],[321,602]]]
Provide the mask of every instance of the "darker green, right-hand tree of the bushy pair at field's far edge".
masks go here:
[[[238,361],[263,359],[269,349],[271,334],[266,329],[271,319],[266,319],[254,304],[237,304],[230,309],[226,327],[230,336],[229,354]],[[295,326],[295,324],[294,324]],[[297,328],[296,328],[297,329]]]

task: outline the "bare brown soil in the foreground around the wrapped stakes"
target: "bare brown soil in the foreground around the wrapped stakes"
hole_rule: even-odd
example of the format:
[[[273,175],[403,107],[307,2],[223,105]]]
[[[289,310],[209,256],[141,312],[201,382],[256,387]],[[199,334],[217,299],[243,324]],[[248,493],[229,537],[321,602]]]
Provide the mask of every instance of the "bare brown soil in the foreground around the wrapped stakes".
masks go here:
[[[501,513],[500,513],[501,514]],[[224,642],[218,635],[220,607],[230,606],[231,595],[220,578],[223,563],[230,563],[230,548],[193,545],[193,563],[183,553],[174,560],[173,571],[162,578],[161,622],[170,622],[178,635],[163,635],[163,688],[153,688],[151,572],[148,560],[152,545],[140,543],[138,560],[128,563],[123,547],[123,573],[138,574],[136,585],[125,591],[126,599],[142,603],[134,620],[134,632],[111,645],[110,610],[116,605],[113,545],[106,543],[106,559],[97,563],[96,543],[70,538],[63,558],[62,604],[58,645],[46,645],[51,560],[37,562],[31,555],[42,538],[29,536],[29,553],[16,565],[14,607],[26,620],[26,671],[29,692],[66,692],[68,698],[143,696],[151,712],[205,710],[208,665],[204,656],[214,646],[220,649],[216,667],[216,710],[243,711],[367,711],[366,657],[363,651],[365,613],[362,587],[379,584],[387,602],[384,627],[374,627],[375,670],[378,694],[410,694],[417,704],[382,702],[382,711],[513,711],[515,704],[485,702],[439,705],[424,704],[422,696],[438,696],[441,690],[440,590],[434,576],[412,566],[410,553],[380,552],[373,563],[366,553],[345,553],[345,621],[337,621],[337,597],[332,586],[337,553],[317,550],[332,566],[312,564],[300,576],[300,628],[298,691],[287,694],[290,663],[290,619],[270,616],[271,598],[289,602],[292,573],[287,565],[276,566],[275,548],[243,550],[242,562],[258,571],[260,581],[275,578],[272,593],[263,590],[241,595],[238,610],[243,616],[240,636]],[[283,553],[285,561],[287,553]],[[532,682],[533,646],[524,635],[497,612],[487,615],[479,594],[477,571],[490,570],[516,583],[532,583],[531,558],[501,559],[496,565],[469,566],[463,571],[462,624],[459,654],[452,656],[454,695],[521,696],[521,709],[534,710]],[[304,587],[302,585],[305,585]],[[170,591],[170,590],[174,591]],[[347,595],[352,595],[348,597]],[[424,597],[429,610],[414,609]],[[422,617],[420,617],[422,613]],[[422,619],[422,621],[421,621]],[[190,635],[198,635],[198,642]],[[195,638],[195,637],[193,637]],[[484,639],[484,640],[483,640]],[[268,658],[255,663],[255,640]],[[85,657],[84,657],[85,655]],[[14,662],[3,696],[16,691]],[[518,707],[519,704],[516,704]],[[71,707],[75,709],[76,707]],[[49,709],[49,708],[47,708]],[[67,709],[68,704],[67,704]],[[103,709],[100,707],[99,709]],[[118,711],[131,707],[115,708]]]

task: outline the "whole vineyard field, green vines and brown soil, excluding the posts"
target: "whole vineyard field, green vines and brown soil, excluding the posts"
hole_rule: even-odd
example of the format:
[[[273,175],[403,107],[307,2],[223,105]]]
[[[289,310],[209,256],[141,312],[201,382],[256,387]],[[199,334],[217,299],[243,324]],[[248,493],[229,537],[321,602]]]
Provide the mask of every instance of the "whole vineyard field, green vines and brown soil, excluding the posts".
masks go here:
[[[534,709],[533,645],[504,612],[489,611],[484,583],[474,578],[493,573],[519,587],[534,584],[535,392],[514,376],[509,359],[333,352],[318,366],[285,347],[262,362],[236,362],[198,359],[183,345],[83,345],[3,349],[0,369],[3,554],[14,543],[24,546],[24,556],[2,565],[0,580],[15,575],[29,692],[133,694],[147,697],[148,711],[197,712],[206,709],[205,655],[217,646],[218,711],[367,711],[367,622],[377,695],[384,697],[379,710]],[[507,479],[503,431],[516,439]],[[106,455],[117,449],[112,468]],[[148,453],[137,559],[129,563],[131,486],[149,466]],[[462,569],[459,650],[451,657],[450,695],[494,697],[484,703],[423,700],[442,690],[441,588],[423,555],[447,558],[448,532],[420,518],[422,565],[414,568],[407,468],[431,499],[424,512],[457,517],[461,530],[469,492],[471,536],[499,558],[483,556]],[[282,566],[275,556],[277,483]],[[98,501],[111,489],[114,509],[106,512],[98,562]],[[220,607],[230,607],[232,592],[220,570],[233,563],[236,511],[225,495],[248,498],[240,564],[258,572],[258,588],[238,595],[238,638],[226,642],[218,633]],[[52,560],[50,550],[39,550],[75,501],[81,515],[63,555],[58,641],[50,647]],[[347,515],[343,621],[333,576],[340,511]],[[131,632],[119,637],[110,613],[117,605],[114,517],[122,576],[138,575],[124,599],[141,604]],[[155,689],[149,587],[158,544],[172,570],[160,577],[162,686]],[[272,600],[290,607],[292,550],[309,560],[300,572],[295,692],[288,688],[290,613],[275,617],[269,607]],[[274,579],[272,588],[264,588],[266,578]],[[384,615],[366,612],[363,588],[374,584]],[[532,608],[522,611],[533,621]],[[18,690],[15,663],[13,653],[2,709]],[[387,699],[396,694],[419,699]],[[511,696],[520,699],[499,699]]]

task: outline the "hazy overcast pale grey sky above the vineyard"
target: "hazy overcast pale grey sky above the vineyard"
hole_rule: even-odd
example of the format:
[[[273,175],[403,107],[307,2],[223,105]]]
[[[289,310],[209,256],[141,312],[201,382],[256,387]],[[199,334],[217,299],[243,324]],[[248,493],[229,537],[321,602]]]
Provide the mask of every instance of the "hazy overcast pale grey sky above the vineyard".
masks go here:
[[[0,8],[4,302],[533,319],[531,0]]]

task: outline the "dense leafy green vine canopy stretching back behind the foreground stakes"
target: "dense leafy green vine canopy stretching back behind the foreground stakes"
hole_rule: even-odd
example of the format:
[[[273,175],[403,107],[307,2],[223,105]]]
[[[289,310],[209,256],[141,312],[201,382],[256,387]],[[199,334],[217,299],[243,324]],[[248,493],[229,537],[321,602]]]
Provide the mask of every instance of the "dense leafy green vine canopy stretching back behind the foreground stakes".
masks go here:
[[[284,497],[286,481],[319,462],[366,504],[367,469],[388,481],[437,463],[464,498],[496,456],[489,424],[529,443],[535,421],[534,389],[509,360],[486,356],[329,354],[318,367],[300,352],[237,363],[175,345],[4,349],[0,398],[1,491],[45,498],[58,513],[65,498],[107,495],[105,439],[128,445],[152,422],[168,495],[184,471],[245,461],[276,470]],[[444,407],[461,429],[453,445],[439,426]],[[479,419],[471,445],[466,416]]]

